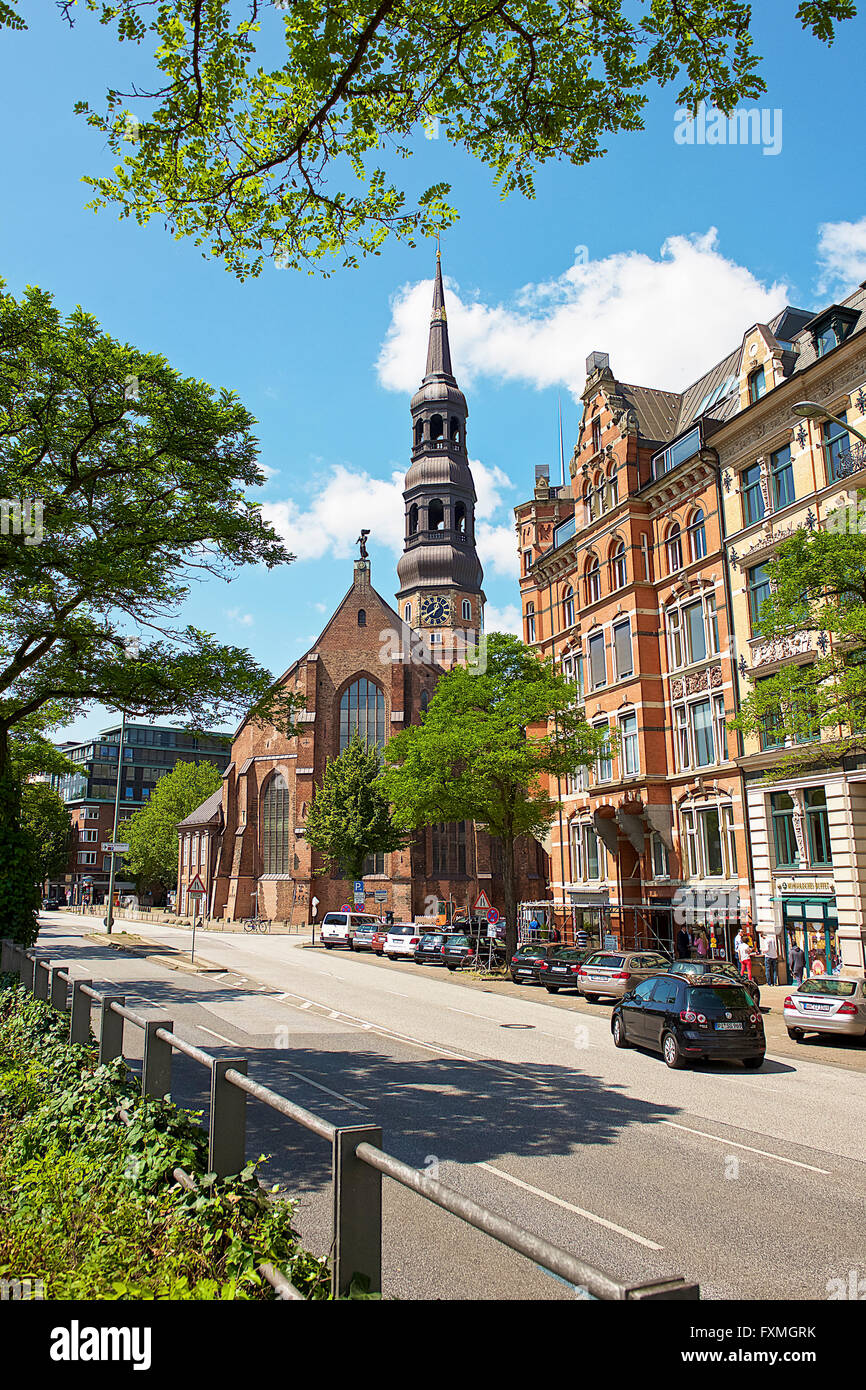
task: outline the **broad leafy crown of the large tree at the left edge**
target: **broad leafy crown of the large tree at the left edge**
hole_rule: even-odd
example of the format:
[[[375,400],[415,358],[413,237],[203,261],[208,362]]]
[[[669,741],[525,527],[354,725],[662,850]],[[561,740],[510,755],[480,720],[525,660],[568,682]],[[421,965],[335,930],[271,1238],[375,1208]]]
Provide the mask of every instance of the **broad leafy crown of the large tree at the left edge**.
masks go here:
[[[249,652],[179,619],[202,575],[293,559],[247,496],[264,482],[253,424],[234,392],[117,342],[82,309],[63,318],[42,289],[17,300],[0,282],[8,824],[19,796],[10,741],[40,713],[99,702],[199,728],[247,712],[291,728],[293,696]],[[1,931],[10,910],[0,895]]]

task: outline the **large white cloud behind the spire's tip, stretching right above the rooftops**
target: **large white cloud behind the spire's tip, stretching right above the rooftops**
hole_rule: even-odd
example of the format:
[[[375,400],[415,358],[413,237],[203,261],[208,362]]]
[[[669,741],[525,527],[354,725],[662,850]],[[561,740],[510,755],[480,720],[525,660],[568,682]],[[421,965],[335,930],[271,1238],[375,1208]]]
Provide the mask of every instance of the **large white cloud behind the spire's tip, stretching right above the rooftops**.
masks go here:
[[[510,304],[484,304],[446,288],[455,373],[461,385],[487,375],[537,389],[566,386],[577,399],[587,356],[610,353],[623,381],[677,391],[741,341],[744,329],[783,307],[787,286],[765,285],[719,250],[714,227],[670,236],[657,259],[580,253],[560,277],[524,285]],[[378,375],[410,392],[424,361],[431,282],[403,285],[392,302]]]

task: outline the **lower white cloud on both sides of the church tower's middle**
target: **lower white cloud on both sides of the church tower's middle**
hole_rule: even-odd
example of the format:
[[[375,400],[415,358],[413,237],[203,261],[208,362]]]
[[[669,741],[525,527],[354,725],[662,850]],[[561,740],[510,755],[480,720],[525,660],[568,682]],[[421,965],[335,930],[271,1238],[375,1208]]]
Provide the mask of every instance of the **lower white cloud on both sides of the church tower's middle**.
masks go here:
[[[475,534],[482,564],[491,564],[499,574],[516,573],[516,541],[510,525],[492,525],[491,518],[507,506],[503,493],[514,484],[502,468],[488,467],[471,459],[478,502],[475,506]],[[403,550],[405,473],[393,471],[391,478],[374,478],[360,468],[335,464],[324,478],[316,480],[316,491],[304,507],[288,498],[284,502],[263,502],[261,514],[282,537],[288,549],[299,560],[317,560],[322,555],[339,559],[354,553],[356,538],[363,525],[373,531],[371,541],[395,555]],[[506,563],[506,549],[514,552],[514,563]]]

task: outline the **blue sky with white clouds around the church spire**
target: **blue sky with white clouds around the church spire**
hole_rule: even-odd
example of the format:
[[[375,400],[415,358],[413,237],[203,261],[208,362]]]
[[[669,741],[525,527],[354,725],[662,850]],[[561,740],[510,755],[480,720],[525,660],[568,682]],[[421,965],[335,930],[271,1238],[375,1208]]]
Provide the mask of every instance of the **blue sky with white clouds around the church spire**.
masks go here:
[[[610,142],[585,168],[552,164],[537,197],[502,202],[485,170],[420,138],[410,188],[446,178],[461,218],[443,239],[455,370],[470,404],[488,628],[513,626],[512,509],[534,467],[559,468],[578,420],[582,363],[610,353],[627,381],[677,389],[784,302],[838,297],[866,277],[862,192],[862,21],[835,47],[805,36],[795,0],[755,7],[778,153],[674,140],[676,89],[655,93],[646,131]],[[424,368],[434,246],[386,243],[329,279],[265,268],[238,282],[220,263],[83,208],[83,174],[110,168],[100,136],[72,114],[125,88],[133,50],[53,6],[0,39],[6,197],[0,275],[81,303],[117,338],[238,391],[257,417],[268,484],[260,493],[299,560],[196,587],[186,617],[240,642],[272,671],[316,638],[350,582],[353,539],[371,528],[373,582],[389,600],[409,461],[409,396]],[[106,721],[82,712],[74,735]]]

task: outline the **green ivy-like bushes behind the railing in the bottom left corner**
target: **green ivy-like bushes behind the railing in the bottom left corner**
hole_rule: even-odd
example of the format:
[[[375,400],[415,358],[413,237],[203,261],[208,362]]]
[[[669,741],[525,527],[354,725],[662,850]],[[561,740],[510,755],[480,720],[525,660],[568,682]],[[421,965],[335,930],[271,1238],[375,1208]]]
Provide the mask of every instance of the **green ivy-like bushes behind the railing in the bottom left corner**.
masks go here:
[[[0,979],[0,1275],[42,1277],[50,1298],[274,1298],[267,1261],[329,1297],[256,1163],[217,1180],[199,1113],[142,1098],[122,1059],[67,1037],[68,1017]]]

